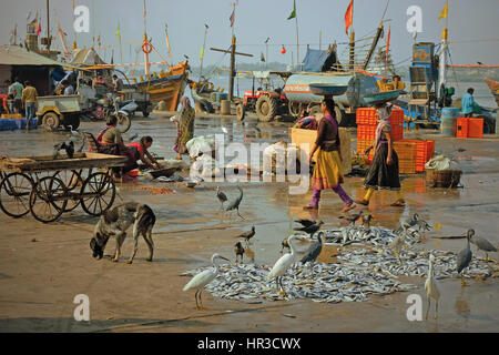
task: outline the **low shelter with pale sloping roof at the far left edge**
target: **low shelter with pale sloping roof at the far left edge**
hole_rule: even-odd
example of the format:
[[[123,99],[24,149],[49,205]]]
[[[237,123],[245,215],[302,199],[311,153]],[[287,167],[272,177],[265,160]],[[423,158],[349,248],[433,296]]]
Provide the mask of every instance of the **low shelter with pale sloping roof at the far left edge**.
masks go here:
[[[29,80],[39,95],[53,91],[51,72],[65,65],[47,57],[29,51],[20,45],[0,45],[0,92],[7,93],[4,81],[19,78],[23,83]],[[67,65],[65,65],[67,67]]]

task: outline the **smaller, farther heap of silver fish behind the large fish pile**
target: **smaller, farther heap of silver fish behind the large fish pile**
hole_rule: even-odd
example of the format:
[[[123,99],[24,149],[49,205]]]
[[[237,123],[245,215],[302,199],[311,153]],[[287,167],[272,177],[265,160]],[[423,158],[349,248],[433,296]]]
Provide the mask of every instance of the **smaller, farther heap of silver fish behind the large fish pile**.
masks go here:
[[[397,234],[393,230],[383,226],[365,227],[350,225],[340,227],[339,230],[324,230],[323,232],[326,234],[326,241],[328,243],[340,243],[343,245],[357,242],[369,242],[374,245],[388,245],[397,237]],[[408,230],[406,242],[409,244],[417,243],[418,235],[419,233],[417,231]]]

